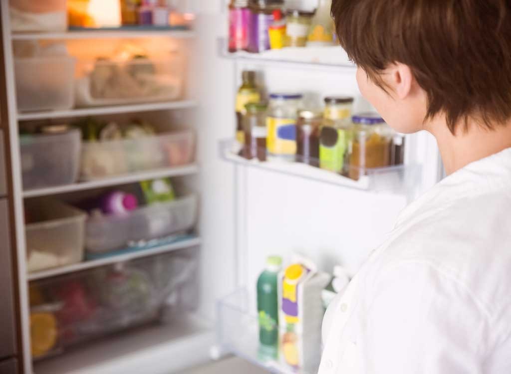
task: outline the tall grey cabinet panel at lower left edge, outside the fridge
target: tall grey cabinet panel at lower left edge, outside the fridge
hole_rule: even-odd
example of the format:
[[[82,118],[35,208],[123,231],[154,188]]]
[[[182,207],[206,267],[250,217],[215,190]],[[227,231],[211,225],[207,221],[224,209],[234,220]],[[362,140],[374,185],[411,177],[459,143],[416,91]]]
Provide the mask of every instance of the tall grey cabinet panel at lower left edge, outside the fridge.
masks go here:
[[[11,243],[7,200],[0,199],[0,359],[16,354]],[[0,366],[0,373],[3,373]]]

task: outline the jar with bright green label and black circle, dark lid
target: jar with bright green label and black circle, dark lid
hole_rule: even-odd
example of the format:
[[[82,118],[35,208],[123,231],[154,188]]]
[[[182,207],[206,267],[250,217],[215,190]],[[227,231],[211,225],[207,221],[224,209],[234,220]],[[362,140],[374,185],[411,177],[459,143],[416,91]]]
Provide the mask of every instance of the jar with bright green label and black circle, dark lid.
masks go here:
[[[319,167],[334,173],[347,173],[348,146],[352,138],[352,97],[324,99],[324,119],[320,133]]]

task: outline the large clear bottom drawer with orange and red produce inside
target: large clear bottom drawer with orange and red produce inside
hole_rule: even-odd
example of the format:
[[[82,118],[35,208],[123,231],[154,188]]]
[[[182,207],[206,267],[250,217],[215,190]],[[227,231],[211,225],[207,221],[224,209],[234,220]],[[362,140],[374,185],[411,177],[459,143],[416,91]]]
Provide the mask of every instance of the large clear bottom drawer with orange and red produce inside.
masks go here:
[[[33,357],[150,321],[171,323],[197,307],[196,271],[189,248],[32,283]]]

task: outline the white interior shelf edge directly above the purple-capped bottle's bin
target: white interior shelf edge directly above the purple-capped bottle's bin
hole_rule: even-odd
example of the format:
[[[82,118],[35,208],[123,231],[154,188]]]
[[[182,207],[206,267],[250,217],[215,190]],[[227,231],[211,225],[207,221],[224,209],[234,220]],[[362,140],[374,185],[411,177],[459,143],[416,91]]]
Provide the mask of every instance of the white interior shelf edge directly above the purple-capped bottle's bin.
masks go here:
[[[38,196],[50,196],[58,195],[68,192],[93,190],[98,188],[110,187],[120,184],[128,184],[139,182],[141,180],[157,179],[165,177],[176,177],[196,174],[199,167],[196,163],[191,163],[185,166],[172,167],[172,168],[161,168],[149,171],[129,173],[109,178],[95,179],[87,182],[78,182],[74,184],[66,184],[55,187],[48,187],[42,189],[24,191],[23,196],[25,198],[38,197]]]

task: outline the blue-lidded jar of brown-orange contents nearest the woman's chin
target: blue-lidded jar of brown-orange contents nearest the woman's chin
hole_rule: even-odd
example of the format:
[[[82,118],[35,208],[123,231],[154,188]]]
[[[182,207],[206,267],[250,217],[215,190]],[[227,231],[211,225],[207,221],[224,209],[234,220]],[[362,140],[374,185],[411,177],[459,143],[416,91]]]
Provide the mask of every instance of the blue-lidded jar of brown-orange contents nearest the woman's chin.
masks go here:
[[[392,130],[378,113],[353,116],[349,177],[355,180],[365,169],[390,166]]]

